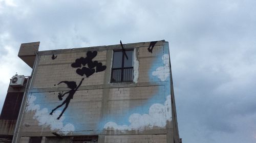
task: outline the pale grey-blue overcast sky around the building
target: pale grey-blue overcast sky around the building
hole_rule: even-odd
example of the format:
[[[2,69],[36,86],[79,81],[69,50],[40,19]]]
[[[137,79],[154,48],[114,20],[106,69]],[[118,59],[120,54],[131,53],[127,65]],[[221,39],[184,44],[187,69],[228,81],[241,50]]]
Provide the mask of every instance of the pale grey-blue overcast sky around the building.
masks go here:
[[[256,142],[255,0],[0,0],[0,110],[9,79],[31,73],[17,56],[21,43],[52,50],[163,39],[183,142]]]

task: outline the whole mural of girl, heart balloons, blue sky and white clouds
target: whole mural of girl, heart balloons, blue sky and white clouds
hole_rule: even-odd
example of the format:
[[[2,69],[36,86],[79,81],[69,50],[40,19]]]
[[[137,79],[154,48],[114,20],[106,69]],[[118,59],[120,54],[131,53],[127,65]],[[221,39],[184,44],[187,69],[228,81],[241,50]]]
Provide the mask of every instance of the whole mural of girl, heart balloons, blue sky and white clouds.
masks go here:
[[[156,42],[151,42],[150,47],[148,47],[148,51],[152,53],[155,44]],[[123,45],[121,44],[121,46]],[[147,47],[145,47],[145,50],[146,48]],[[134,51],[137,52],[136,50]],[[145,53],[151,55],[151,53],[148,53],[147,51]],[[162,56],[156,56],[154,59],[157,61],[154,61],[157,64],[149,63],[150,65],[148,65],[150,69],[148,69],[147,72],[148,77],[150,78],[150,82],[168,80],[170,74],[169,55],[163,55],[162,53],[161,55]],[[71,65],[72,69],[74,68],[74,72],[76,72],[76,76],[79,77],[79,79],[77,79],[76,82],[58,81],[58,85],[66,85],[66,87],[69,89],[59,93],[54,92],[52,96],[55,98],[55,101],[51,101],[51,104],[45,104],[49,103],[49,100],[52,100],[52,97],[49,98],[50,94],[44,95],[44,93],[33,93],[30,95],[27,102],[28,106],[26,111],[35,112],[33,119],[38,121],[38,125],[49,126],[51,130],[58,130],[61,134],[68,134],[71,132],[72,134],[76,135],[80,135],[80,132],[76,131],[81,131],[84,129],[90,129],[92,131],[99,132],[103,131],[103,129],[115,129],[121,132],[125,132],[131,130],[144,131],[147,129],[154,129],[155,127],[165,128],[167,121],[170,122],[172,120],[172,107],[169,95],[170,89],[168,89],[170,87],[169,82],[166,82],[164,86],[159,86],[156,88],[155,93],[148,93],[149,98],[145,99],[145,102],[141,102],[141,105],[129,106],[129,108],[127,108],[127,113],[125,112],[124,116],[119,117],[119,115],[116,113],[114,113],[115,117],[113,117],[113,115],[106,115],[106,117],[95,119],[99,120],[99,122],[97,121],[95,125],[91,125],[90,123],[85,122],[87,120],[92,120],[90,119],[92,117],[87,115],[82,116],[84,109],[78,110],[76,107],[73,108],[73,103],[70,101],[74,101],[71,99],[73,99],[75,94],[79,95],[79,91],[77,90],[79,90],[82,83],[86,82],[85,77],[89,78],[94,73],[101,72],[106,69],[106,66],[102,65],[101,62],[93,60],[96,56],[97,51],[88,51],[86,56],[77,58],[74,63],[68,65]],[[53,55],[52,57],[56,59],[57,55]],[[139,59],[135,59],[135,61],[139,61]],[[134,65],[136,65],[136,63],[134,63]],[[139,63],[137,63],[137,66],[139,68]],[[82,96],[86,97],[86,95]],[[56,103],[57,100],[60,101]],[[70,107],[68,108],[68,106]],[[86,109],[88,109],[88,107],[86,107]],[[79,118],[76,118],[76,116]],[[108,116],[112,117],[109,118]],[[90,134],[91,132],[88,130],[84,131],[84,133]]]

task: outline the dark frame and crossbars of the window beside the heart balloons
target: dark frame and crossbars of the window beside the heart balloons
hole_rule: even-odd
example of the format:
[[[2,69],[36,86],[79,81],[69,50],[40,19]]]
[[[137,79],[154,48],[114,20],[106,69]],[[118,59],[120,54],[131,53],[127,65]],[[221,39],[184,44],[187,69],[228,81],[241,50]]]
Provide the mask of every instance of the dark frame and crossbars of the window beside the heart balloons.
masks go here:
[[[133,75],[133,73],[132,73],[132,79],[131,80],[129,80],[129,81],[123,81],[123,71],[124,71],[124,69],[132,69],[132,71],[134,70],[133,68],[134,68],[134,48],[127,48],[127,49],[113,49],[113,55],[112,55],[112,58],[113,58],[113,60],[112,60],[112,67],[111,67],[111,78],[110,78],[110,83],[122,83],[122,82],[133,82],[133,78],[134,78],[134,75]],[[124,67],[124,58],[126,58],[125,57],[125,55],[124,55],[124,52],[122,52],[122,66],[121,66],[121,68],[113,68],[114,67],[114,53],[115,52],[118,52],[118,51],[133,51],[133,60],[132,60],[132,67]],[[121,80],[120,81],[113,81],[113,70],[118,70],[118,69],[121,69]],[[134,71],[133,71],[134,72]]]

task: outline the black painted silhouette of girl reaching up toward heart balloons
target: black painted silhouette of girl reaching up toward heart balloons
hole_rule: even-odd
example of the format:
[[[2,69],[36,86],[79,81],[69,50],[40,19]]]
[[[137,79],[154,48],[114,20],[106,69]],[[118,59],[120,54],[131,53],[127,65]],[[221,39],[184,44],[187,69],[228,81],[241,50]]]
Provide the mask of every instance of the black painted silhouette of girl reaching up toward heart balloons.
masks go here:
[[[59,95],[58,95],[59,100],[62,100],[62,97],[63,97],[64,95],[66,95],[66,94],[68,94],[68,93],[69,93],[69,95],[68,95],[68,97],[67,97],[60,105],[58,105],[56,108],[54,108],[54,109],[52,110],[52,112],[50,112],[50,115],[52,115],[52,113],[53,113],[57,108],[59,108],[59,107],[61,107],[62,105],[66,104],[65,107],[63,108],[62,112],[60,113],[59,117],[57,118],[57,120],[59,120],[59,118],[62,116],[63,112],[65,112],[65,110],[68,108],[70,100],[73,99],[73,96],[74,96],[75,92],[76,92],[77,89],[80,87],[80,85],[82,84],[82,81],[83,81],[83,80],[84,80],[84,78],[82,78],[82,80],[80,81],[80,83],[78,84],[78,86],[76,85],[76,82],[75,82],[75,81],[61,81],[61,82],[58,83],[58,84],[60,84],[60,83],[62,83],[62,82],[63,82],[63,83],[66,83],[66,84],[68,85],[68,88],[70,88],[71,90],[68,91],[68,92],[66,92],[66,93],[64,93],[63,95],[62,95],[63,92],[62,92],[62,93],[59,93]]]

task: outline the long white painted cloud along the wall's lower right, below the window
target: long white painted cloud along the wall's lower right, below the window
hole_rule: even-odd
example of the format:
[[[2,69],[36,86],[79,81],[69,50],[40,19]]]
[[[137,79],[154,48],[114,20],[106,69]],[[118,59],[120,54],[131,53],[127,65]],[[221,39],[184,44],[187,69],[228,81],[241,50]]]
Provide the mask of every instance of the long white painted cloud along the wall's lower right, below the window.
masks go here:
[[[115,130],[139,130],[142,131],[145,128],[152,129],[153,127],[165,127],[166,121],[172,120],[172,106],[170,102],[170,95],[166,97],[166,101],[163,104],[153,104],[150,107],[148,114],[133,113],[129,117],[129,126],[118,125],[115,122],[108,122],[104,125],[105,129],[113,128]]]

